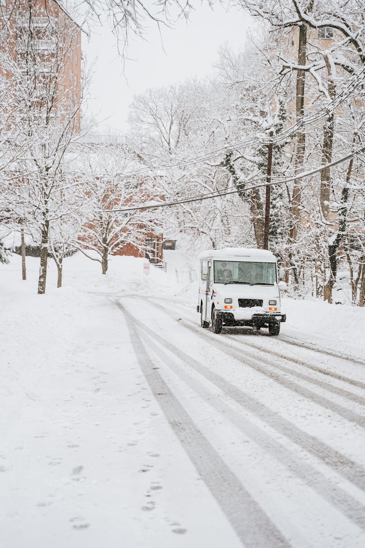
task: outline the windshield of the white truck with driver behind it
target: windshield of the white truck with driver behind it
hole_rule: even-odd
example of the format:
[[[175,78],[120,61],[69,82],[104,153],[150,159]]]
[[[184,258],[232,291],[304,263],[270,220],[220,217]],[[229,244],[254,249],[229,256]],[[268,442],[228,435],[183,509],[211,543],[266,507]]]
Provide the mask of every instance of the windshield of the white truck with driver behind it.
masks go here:
[[[276,283],[275,262],[214,261],[215,283],[242,283],[273,286]]]

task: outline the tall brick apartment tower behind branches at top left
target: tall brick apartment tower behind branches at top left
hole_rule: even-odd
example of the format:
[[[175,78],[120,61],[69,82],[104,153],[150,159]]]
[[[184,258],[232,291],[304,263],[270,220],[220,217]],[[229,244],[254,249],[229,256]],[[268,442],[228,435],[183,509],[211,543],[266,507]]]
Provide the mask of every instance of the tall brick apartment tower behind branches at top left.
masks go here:
[[[82,93],[81,29],[57,0],[0,2],[0,78],[28,78],[32,99],[47,100],[54,81],[55,109],[79,104]],[[33,66],[31,66],[31,64]],[[15,74],[15,67],[18,73]],[[33,74],[32,74],[33,72]],[[74,130],[80,130],[80,111]]]

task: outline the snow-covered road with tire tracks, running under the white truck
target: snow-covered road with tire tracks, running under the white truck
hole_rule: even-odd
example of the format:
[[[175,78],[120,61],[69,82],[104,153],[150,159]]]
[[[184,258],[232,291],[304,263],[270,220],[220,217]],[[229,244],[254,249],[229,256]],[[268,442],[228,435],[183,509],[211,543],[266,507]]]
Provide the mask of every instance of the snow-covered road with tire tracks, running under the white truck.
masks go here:
[[[176,301],[117,304],[149,389],[243,545],[364,544],[357,359],[250,329],[214,335]]]

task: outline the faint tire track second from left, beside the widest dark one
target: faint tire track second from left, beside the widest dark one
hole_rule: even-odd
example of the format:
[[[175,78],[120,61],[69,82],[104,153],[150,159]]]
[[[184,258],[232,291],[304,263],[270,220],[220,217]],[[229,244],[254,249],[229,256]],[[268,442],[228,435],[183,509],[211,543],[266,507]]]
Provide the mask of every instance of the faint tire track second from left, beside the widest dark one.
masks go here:
[[[283,446],[273,436],[260,429],[252,423],[247,416],[242,416],[225,403],[222,398],[207,389],[199,380],[194,379],[186,370],[164,350],[161,345],[154,343],[150,335],[147,346],[149,346],[168,368],[170,368],[187,386],[190,387],[202,400],[208,403],[213,409],[221,413],[225,419],[228,419],[238,430],[249,437],[264,452],[270,453],[279,463],[284,464],[297,478],[300,478],[314,490],[318,495],[343,513],[347,519],[355,523],[362,530],[365,530],[365,506],[350,494],[334,484],[331,479],[326,478],[323,473],[316,470],[314,466],[307,464],[304,459],[298,458],[290,449]],[[187,362],[183,362],[187,363]]]

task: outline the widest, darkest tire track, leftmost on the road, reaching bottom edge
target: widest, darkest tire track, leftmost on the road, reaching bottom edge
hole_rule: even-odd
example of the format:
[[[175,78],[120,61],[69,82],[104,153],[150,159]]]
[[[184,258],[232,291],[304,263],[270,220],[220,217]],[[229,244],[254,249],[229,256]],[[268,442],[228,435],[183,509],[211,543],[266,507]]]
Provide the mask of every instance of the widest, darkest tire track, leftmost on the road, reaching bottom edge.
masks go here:
[[[262,548],[262,546],[289,548],[290,543],[196,427],[158,370],[154,368],[135,327],[139,322],[135,321],[135,318],[124,309],[118,300],[114,302],[128,319],[126,323],[132,347],[154,397],[239,539],[250,548]]]

